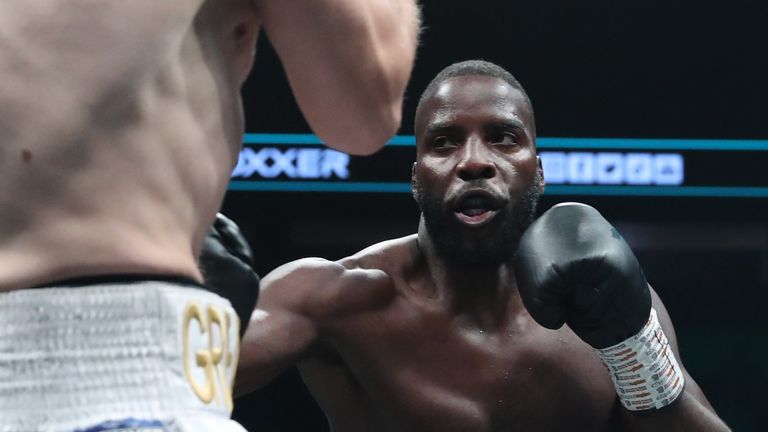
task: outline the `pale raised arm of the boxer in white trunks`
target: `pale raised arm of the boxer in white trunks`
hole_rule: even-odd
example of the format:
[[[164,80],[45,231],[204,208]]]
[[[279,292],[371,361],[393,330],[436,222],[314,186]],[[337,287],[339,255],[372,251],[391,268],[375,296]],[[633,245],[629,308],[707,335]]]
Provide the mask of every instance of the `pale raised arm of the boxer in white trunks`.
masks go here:
[[[419,32],[414,0],[255,0],[309,125],[352,154],[397,131]]]

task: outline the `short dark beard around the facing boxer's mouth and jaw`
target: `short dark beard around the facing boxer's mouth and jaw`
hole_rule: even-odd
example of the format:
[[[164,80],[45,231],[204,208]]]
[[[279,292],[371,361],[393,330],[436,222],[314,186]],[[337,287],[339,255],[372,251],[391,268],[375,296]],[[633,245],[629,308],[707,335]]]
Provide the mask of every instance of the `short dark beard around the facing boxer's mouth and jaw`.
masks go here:
[[[445,211],[443,202],[418,183],[416,201],[424,216],[429,238],[441,257],[457,264],[492,266],[514,257],[520,237],[536,218],[536,206],[542,193],[540,185],[541,174],[537,172],[512,212],[499,215],[506,220],[496,241],[483,242],[481,246],[474,247],[463,242],[461,235],[455,232],[455,224],[449,221],[451,215]]]

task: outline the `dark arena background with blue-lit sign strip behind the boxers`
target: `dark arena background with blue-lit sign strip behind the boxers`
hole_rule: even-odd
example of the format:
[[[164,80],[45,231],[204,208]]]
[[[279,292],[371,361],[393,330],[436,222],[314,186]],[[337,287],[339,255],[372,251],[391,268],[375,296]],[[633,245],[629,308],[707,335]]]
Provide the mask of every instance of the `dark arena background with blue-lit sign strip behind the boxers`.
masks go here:
[[[223,211],[264,275],[415,232],[418,96],[450,63],[511,71],[533,101],[547,192],[594,205],[667,305],[683,361],[735,431],[768,430],[768,2],[422,2],[399,135],[369,158],[317,143],[262,37]],[[329,110],[334,107],[329,106]],[[249,430],[327,431],[289,370],[237,400]]]

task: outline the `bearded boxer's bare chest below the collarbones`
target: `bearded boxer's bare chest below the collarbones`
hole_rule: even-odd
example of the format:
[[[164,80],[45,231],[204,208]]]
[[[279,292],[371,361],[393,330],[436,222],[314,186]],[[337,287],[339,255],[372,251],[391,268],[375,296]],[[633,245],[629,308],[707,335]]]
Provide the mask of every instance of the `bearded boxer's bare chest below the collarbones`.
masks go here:
[[[382,430],[605,430],[615,394],[589,346],[525,319],[488,331],[391,310],[357,322],[341,356]]]

